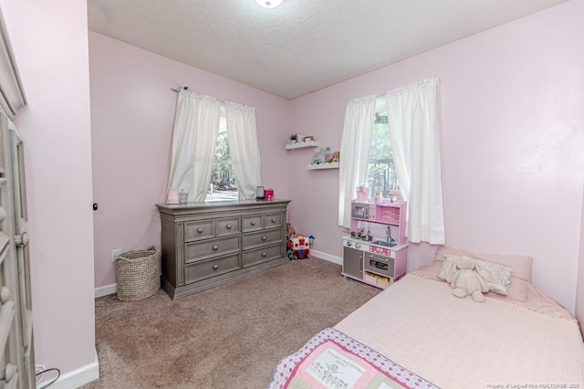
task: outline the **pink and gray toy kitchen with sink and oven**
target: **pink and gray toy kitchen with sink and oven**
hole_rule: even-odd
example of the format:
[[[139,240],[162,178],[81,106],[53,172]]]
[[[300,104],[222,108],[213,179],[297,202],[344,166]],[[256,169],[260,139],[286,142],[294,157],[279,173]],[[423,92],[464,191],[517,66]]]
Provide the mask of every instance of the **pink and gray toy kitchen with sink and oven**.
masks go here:
[[[342,275],[385,289],[406,272],[407,203],[399,193],[370,198],[369,190],[358,188],[350,209],[350,235],[342,238]]]

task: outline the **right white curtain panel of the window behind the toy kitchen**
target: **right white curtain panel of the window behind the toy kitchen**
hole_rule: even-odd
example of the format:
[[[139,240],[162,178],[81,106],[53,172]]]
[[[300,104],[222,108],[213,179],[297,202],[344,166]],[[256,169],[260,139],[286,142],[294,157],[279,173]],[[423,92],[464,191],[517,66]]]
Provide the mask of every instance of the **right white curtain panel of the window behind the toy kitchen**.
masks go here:
[[[408,240],[443,245],[438,84],[438,79],[424,79],[389,91],[387,112],[393,161],[408,201]]]

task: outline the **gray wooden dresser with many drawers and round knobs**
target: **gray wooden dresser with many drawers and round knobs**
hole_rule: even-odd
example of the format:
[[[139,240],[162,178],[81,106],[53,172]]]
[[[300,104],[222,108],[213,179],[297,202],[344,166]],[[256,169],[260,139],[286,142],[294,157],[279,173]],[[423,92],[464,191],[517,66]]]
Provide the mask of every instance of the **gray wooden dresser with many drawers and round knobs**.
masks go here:
[[[157,205],[162,289],[174,300],[287,263],[289,200]]]

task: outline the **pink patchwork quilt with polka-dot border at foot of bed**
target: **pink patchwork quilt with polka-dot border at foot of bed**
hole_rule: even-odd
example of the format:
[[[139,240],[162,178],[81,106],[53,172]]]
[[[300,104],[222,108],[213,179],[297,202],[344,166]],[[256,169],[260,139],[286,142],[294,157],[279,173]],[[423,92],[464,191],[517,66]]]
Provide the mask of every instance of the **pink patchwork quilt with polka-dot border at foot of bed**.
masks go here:
[[[276,366],[269,389],[435,388],[416,374],[332,328]]]

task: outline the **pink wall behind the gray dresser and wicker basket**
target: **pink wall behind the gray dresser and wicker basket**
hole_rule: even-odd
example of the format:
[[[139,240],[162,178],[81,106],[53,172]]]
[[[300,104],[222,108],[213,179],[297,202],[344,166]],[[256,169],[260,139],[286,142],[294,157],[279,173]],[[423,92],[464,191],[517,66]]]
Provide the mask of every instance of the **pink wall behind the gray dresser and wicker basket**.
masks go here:
[[[289,101],[183,65],[115,39],[89,33],[94,199],[95,286],[116,282],[113,248],[160,245],[157,203],[165,199],[176,94],[198,93],[255,107],[262,179],[288,196]]]

